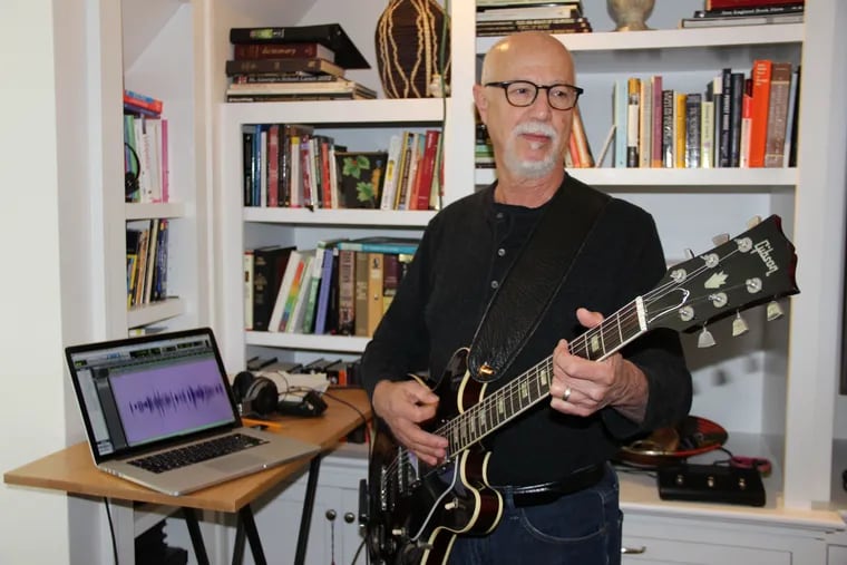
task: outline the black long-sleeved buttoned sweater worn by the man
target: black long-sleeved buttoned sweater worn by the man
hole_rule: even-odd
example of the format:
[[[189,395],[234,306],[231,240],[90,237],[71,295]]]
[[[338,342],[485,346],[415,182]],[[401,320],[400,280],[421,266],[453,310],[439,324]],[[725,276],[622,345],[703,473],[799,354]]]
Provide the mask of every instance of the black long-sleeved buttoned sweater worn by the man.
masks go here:
[[[559,189],[575,183],[566,176]],[[430,222],[366,349],[361,370],[369,394],[383,379],[402,380],[424,370],[436,379],[444,373],[452,353],[470,344],[486,304],[547,206],[496,204],[494,187],[488,187],[447,206]],[[651,290],[664,272],[652,217],[613,198],[537,330],[507,374],[486,393],[548,357],[561,338],[584,331],[576,320],[577,308],[612,314]],[[636,425],[612,408],[581,418],[539,402],[486,438],[485,446],[493,451],[490,484],[557,480],[609,459],[623,439],[676,422],[688,413],[691,374],[674,332],[653,330],[622,353],[648,377],[643,422]]]

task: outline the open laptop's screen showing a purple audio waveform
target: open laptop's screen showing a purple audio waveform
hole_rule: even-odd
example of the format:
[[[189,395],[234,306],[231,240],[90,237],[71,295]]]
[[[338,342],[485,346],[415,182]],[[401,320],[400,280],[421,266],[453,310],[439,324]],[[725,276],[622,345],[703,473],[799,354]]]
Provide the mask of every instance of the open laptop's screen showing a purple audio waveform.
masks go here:
[[[211,333],[105,343],[69,363],[98,460],[237,422]]]

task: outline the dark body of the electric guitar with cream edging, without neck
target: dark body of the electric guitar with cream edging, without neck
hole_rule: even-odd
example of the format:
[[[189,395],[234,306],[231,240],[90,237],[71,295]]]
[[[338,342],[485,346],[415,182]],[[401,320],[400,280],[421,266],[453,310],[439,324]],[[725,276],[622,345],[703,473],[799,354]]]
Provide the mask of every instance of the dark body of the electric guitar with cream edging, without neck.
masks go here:
[[[485,386],[467,373],[467,353],[460,349],[452,355],[434,389],[442,400],[427,429],[449,422],[481,400]],[[456,535],[490,533],[503,515],[503,499],[488,486],[489,455],[476,444],[431,467],[400,446],[379,420],[368,477],[371,562],[444,564]]]

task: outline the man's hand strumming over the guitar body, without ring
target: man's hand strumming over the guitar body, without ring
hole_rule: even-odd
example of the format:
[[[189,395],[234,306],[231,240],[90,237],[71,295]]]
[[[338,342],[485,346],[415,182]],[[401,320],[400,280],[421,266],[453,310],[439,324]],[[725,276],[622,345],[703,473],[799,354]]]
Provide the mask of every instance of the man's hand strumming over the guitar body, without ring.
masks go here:
[[[427,465],[447,456],[447,438],[429,434],[420,423],[436,415],[438,396],[416,380],[380,381],[373,389],[373,410],[384,420],[395,439]]]

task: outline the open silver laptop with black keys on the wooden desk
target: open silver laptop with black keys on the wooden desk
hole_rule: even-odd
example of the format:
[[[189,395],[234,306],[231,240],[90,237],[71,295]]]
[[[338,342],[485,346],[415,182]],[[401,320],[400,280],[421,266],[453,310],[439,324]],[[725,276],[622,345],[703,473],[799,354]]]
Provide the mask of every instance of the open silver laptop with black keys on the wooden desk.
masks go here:
[[[208,328],[65,350],[95,465],[179,496],[317,454],[242,425]]]

